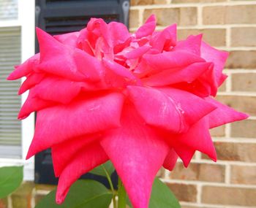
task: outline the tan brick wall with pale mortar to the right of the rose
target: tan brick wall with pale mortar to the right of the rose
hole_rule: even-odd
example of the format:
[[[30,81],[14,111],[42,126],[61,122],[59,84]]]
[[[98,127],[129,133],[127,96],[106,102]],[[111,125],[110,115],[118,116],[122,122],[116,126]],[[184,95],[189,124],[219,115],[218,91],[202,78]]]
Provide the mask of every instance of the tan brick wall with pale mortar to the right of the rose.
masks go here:
[[[251,115],[211,131],[218,161],[196,153],[188,169],[177,163],[162,178],[183,208],[256,207],[256,1],[132,0],[130,30],[149,15],[158,29],[178,23],[178,37],[203,33],[206,42],[230,51],[229,75],[219,101]]]

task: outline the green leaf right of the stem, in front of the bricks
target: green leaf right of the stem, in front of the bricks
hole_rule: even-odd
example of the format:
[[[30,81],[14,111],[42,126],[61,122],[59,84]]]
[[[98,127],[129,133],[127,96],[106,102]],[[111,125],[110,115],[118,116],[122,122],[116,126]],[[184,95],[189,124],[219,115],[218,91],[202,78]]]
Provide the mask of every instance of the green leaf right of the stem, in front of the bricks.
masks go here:
[[[127,204],[132,207],[131,202],[127,198]],[[158,178],[155,178],[152,187],[149,208],[181,208],[178,199],[174,196],[170,188]]]

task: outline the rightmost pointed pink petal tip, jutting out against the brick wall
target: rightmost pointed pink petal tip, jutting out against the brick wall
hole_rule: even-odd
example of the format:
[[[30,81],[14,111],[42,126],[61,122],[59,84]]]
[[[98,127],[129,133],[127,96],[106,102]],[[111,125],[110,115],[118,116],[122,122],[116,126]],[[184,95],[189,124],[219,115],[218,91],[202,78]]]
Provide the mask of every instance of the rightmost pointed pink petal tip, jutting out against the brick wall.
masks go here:
[[[249,115],[246,115],[243,112],[238,112],[225,104],[221,104],[220,102],[211,99],[210,97],[206,98],[206,101],[214,104],[217,107],[217,109],[208,115],[210,128],[222,126],[226,123],[231,123],[238,120],[244,120],[249,117]]]

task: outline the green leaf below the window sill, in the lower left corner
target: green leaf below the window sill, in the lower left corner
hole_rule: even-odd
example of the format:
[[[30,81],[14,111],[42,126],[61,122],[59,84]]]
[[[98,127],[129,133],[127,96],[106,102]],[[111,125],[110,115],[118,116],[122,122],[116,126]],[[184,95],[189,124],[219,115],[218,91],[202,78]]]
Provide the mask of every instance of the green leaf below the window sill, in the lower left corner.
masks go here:
[[[18,188],[23,180],[23,166],[0,168],[0,199]]]

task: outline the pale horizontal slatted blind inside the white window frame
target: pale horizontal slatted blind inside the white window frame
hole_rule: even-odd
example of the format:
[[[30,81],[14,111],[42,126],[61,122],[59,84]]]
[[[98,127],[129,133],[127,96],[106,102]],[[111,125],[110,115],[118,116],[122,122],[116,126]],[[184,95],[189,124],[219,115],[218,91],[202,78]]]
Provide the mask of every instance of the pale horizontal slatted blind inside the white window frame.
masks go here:
[[[1,3],[3,1],[0,1]],[[1,8],[1,7],[0,7]],[[20,27],[0,28],[0,157],[21,155],[21,122],[17,119],[20,80],[6,78],[20,63]]]

